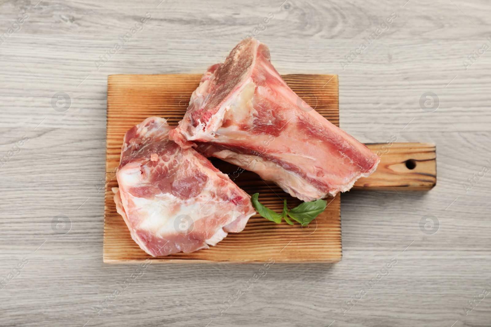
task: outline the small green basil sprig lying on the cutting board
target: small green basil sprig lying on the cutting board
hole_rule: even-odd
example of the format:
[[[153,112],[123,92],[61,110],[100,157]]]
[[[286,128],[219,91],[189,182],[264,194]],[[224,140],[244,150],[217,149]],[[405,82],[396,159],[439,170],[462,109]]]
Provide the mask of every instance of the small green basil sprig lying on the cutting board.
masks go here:
[[[265,207],[261,202],[257,199],[259,197],[259,193],[255,193],[251,197],[252,205],[256,209],[256,211],[264,218],[275,222],[276,224],[281,223],[282,219],[285,219],[287,224],[293,225],[293,222],[288,218],[299,222],[302,226],[308,225],[315,217],[317,217],[321,212],[326,209],[327,201],[326,200],[316,200],[310,202],[303,202],[299,206],[293,208],[292,210],[288,210],[286,205],[286,200],[283,201],[283,212],[277,213],[270,208]]]

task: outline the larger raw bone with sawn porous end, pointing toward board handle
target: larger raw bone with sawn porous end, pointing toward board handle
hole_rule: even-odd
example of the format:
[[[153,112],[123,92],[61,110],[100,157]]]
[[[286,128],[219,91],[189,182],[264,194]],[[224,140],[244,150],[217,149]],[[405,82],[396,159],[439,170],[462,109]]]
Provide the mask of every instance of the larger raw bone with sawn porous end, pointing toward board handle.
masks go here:
[[[303,201],[348,191],[379,157],[302,101],[250,38],[211,66],[170,137],[272,180]]]

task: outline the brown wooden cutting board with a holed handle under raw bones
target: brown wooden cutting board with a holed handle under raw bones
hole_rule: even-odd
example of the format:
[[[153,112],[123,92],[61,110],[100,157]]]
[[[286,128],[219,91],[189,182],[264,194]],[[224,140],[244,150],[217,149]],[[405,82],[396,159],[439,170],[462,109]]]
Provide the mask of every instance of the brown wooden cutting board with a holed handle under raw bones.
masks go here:
[[[132,240],[123,218],[116,212],[112,187],[117,186],[125,132],[149,116],[177,125],[188,107],[201,74],[109,75],[104,215],[104,262],[141,262],[150,255]],[[283,75],[300,98],[339,126],[337,75]],[[436,184],[436,149],[428,143],[367,145],[381,155],[377,171],[355,183],[359,189],[428,190]],[[300,204],[272,182],[252,172],[212,158],[213,164],[248,194],[259,193],[259,201],[281,211],[283,199],[290,208]],[[152,262],[337,262],[342,258],[340,195],[327,199],[326,210],[308,227],[275,224],[259,215],[251,217],[240,233],[229,233],[217,246],[192,253],[176,253]]]

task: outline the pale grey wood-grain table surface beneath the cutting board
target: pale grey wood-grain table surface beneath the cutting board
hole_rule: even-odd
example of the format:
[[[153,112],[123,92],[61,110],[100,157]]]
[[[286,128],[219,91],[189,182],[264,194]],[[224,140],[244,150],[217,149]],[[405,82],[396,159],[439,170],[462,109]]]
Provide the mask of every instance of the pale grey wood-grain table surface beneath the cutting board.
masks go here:
[[[491,291],[491,4],[281,2],[0,3],[1,326],[489,326],[491,294],[464,307]],[[107,76],[202,73],[258,31],[281,74],[339,75],[361,142],[436,143],[436,187],[344,194],[336,264],[103,264]]]

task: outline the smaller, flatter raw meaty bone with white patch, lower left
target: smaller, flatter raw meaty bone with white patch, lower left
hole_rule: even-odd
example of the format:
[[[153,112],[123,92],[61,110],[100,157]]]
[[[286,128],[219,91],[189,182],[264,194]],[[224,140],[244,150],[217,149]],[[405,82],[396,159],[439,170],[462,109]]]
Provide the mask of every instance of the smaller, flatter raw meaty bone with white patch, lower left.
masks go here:
[[[152,256],[208,249],[255,214],[227,175],[168,139],[171,128],[150,117],[126,133],[113,189],[131,237]]]

